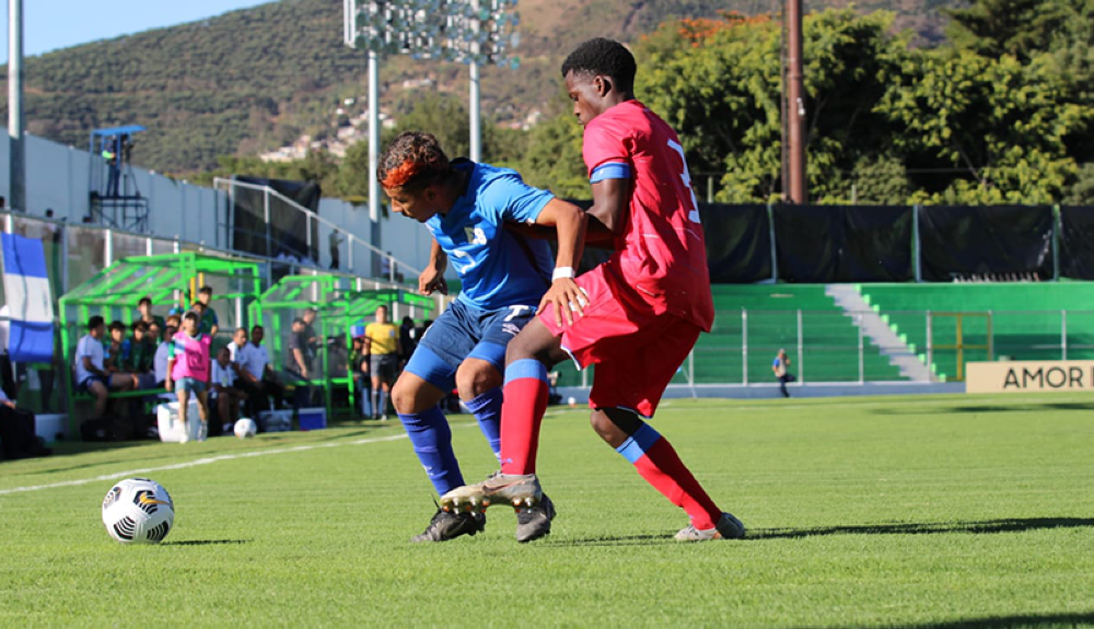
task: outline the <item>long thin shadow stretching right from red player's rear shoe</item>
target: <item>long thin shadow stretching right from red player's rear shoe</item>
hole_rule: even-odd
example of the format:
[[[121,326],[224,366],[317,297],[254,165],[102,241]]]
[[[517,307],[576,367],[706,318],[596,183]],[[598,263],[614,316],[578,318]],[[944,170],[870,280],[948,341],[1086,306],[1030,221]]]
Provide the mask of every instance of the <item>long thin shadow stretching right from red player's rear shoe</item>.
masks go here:
[[[758,528],[748,539],[795,539],[823,535],[938,535],[944,533],[1021,533],[1045,528],[1094,527],[1094,517],[1026,517],[985,522],[934,522],[821,526],[816,528]]]

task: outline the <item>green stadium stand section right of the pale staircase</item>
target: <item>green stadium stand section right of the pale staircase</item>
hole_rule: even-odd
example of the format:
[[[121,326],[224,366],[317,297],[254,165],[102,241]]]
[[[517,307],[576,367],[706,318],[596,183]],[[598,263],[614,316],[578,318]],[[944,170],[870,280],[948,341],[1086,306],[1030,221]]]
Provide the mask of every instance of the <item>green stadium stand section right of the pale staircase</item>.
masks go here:
[[[933,337],[932,372],[940,378],[957,374],[962,324],[965,361],[1094,359],[1094,282],[1019,282],[950,284],[860,284],[863,300],[927,361],[928,321]],[[934,313],[928,316],[927,311]],[[1064,324],[1063,311],[1069,311]],[[962,317],[939,313],[961,313]],[[991,337],[988,336],[990,321]],[[1064,325],[1067,334],[1064,335]]]

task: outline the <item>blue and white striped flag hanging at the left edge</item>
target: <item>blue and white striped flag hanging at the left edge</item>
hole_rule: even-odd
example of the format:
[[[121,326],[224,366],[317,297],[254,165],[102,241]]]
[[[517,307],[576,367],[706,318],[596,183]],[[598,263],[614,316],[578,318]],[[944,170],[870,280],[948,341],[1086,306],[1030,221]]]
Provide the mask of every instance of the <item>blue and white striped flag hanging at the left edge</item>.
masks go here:
[[[0,245],[11,316],[8,353],[14,362],[53,362],[54,303],[42,241],[0,234]]]

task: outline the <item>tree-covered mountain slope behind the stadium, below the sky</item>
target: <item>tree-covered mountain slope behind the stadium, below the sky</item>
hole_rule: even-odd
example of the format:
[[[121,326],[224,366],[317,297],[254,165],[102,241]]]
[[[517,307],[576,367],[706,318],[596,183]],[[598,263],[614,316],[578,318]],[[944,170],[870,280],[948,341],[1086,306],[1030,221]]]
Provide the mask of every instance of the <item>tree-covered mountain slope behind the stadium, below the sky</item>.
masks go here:
[[[862,9],[898,11],[898,25],[938,34],[941,0],[870,0]],[[842,0],[811,4],[845,4]],[[896,3],[894,5],[894,3]],[[672,16],[718,10],[778,10],[765,0],[522,0],[521,69],[484,71],[484,112],[520,120],[558,91],[565,51],[595,35],[632,40]],[[282,0],[224,15],[96,42],[30,58],[25,63],[27,129],[84,147],[96,127],[140,124],[133,161],[185,173],[208,170],[220,154],[253,154],[302,133],[331,130],[331,112],[365,92],[362,53],[341,43],[338,0]],[[429,75],[441,92],[466,94],[466,69],[391,59],[382,71],[383,104],[397,115],[414,94],[404,79]],[[4,73],[5,77],[5,73]],[[0,93],[7,94],[5,80]],[[362,105],[359,105],[360,108]],[[4,101],[0,115],[5,115]]]

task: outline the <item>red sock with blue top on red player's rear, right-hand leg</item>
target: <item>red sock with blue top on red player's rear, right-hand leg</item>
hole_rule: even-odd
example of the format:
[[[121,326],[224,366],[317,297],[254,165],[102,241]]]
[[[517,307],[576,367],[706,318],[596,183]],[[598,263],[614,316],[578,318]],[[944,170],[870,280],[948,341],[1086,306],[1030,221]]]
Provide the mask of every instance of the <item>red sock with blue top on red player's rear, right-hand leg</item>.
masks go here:
[[[616,452],[633,463],[642,478],[670,502],[687,512],[696,528],[713,528],[722,516],[668,440],[650,424],[643,423]]]

